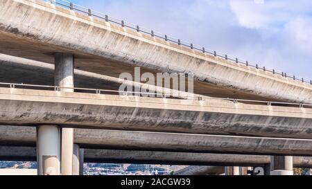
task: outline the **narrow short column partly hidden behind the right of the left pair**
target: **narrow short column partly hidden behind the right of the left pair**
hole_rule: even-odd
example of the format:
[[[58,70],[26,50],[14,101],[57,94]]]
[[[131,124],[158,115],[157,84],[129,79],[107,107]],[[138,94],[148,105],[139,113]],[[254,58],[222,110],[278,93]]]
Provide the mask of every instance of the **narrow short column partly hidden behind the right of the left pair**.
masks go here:
[[[73,175],[83,175],[84,150],[78,144],[73,145]]]

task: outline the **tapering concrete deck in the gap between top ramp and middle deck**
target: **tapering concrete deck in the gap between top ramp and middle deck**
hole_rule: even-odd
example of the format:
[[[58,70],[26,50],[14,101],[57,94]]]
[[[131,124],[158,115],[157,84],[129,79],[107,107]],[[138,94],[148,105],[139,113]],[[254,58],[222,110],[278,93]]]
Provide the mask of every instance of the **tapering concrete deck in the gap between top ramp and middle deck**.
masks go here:
[[[39,84],[49,86],[55,85],[53,64],[0,54],[0,66],[0,82]],[[157,87],[150,84],[131,82],[108,75],[82,71],[80,69],[74,69],[74,73],[73,81],[76,88],[107,89],[118,91],[121,84],[126,84],[128,86],[140,87],[146,91],[153,89],[153,91],[156,93],[179,93],[181,98],[196,98],[201,96],[183,91],[175,91],[173,89],[167,89],[164,87]]]

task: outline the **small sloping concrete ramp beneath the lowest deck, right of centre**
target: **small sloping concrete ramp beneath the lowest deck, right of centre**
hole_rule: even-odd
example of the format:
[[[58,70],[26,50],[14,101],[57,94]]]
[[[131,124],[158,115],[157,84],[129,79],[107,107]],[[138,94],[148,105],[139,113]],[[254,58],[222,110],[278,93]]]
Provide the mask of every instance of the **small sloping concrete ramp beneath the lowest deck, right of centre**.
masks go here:
[[[178,170],[175,175],[220,175],[224,173],[224,167],[218,166],[189,166]]]

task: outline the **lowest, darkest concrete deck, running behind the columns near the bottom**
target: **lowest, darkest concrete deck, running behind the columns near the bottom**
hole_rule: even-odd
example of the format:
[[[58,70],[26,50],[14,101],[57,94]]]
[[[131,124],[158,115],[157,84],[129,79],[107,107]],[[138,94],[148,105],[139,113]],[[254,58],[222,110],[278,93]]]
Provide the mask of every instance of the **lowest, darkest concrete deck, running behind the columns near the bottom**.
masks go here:
[[[162,165],[263,166],[270,156],[84,149],[85,163],[138,163]],[[35,147],[0,146],[0,161],[36,161]],[[293,167],[312,168],[312,157],[294,156]]]

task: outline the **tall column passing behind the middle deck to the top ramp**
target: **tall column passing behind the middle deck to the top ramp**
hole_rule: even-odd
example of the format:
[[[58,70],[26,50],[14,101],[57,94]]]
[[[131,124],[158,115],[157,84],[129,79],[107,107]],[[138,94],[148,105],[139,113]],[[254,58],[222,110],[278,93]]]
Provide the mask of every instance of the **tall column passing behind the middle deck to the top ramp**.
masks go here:
[[[55,86],[60,91],[73,92],[74,58],[72,54],[55,53]],[[63,88],[65,87],[65,88]],[[61,172],[62,175],[73,174],[73,129],[62,128],[61,146]]]

